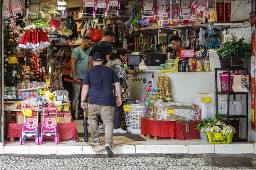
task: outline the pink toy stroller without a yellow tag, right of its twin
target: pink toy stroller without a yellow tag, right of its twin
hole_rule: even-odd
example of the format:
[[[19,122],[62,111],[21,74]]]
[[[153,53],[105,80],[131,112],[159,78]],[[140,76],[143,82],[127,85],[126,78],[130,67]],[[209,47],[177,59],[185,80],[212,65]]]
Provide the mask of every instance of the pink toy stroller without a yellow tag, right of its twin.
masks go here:
[[[58,110],[56,107],[53,107],[53,108],[43,107],[42,110],[43,110],[43,124],[42,124],[41,134],[39,134],[40,144],[44,140],[44,135],[47,137],[54,136],[54,142],[55,144],[58,144],[60,140],[60,136],[59,134],[57,134]],[[44,118],[44,110],[55,110],[56,118],[52,118],[52,117]]]

